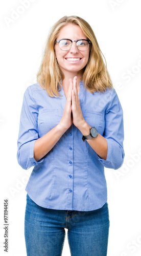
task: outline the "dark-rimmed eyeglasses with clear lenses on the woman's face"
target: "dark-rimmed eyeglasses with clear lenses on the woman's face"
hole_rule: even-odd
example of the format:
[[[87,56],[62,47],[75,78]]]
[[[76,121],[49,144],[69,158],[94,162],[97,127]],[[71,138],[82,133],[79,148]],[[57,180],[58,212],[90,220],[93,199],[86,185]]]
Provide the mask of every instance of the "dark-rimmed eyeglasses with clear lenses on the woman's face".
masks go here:
[[[91,41],[81,39],[81,40],[70,40],[70,39],[60,39],[57,40],[59,47],[62,51],[68,51],[72,47],[72,42],[76,42],[77,49],[79,51],[87,51]]]

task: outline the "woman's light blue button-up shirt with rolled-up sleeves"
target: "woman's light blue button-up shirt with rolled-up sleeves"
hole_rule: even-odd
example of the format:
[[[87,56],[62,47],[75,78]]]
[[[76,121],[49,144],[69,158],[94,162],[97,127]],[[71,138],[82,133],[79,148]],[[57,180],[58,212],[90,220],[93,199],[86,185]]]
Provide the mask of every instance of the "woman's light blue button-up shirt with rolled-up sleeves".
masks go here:
[[[123,111],[115,90],[88,92],[80,82],[80,104],[85,121],[95,126],[108,143],[107,159],[101,159],[82,133],[72,124],[52,150],[40,161],[34,159],[35,141],[48,133],[62,118],[66,103],[63,88],[50,97],[39,83],[28,87],[20,116],[18,163],[34,166],[26,191],[39,206],[61,210],[88,211],[107,201],[104,166],[117,169],[124,159]]]

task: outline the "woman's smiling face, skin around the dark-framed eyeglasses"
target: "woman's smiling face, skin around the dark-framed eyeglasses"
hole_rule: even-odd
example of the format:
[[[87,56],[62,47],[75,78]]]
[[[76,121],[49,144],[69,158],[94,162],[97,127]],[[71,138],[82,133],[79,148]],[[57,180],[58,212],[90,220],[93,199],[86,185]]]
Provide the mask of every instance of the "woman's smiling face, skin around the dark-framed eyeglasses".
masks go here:
[[[87,39],[84,35],[82,29],[78,25],[67,24],[64,26],[58,37],[59,39],[71,39],[71,40],[79,40],[79,39]],[[55,45],[55,54],[59,64],[61,71],[64,76],[69,73],[72,75],[76,75],[79,71],[83,74],[83,69],[86,66],[89,58],[89,48],[86,51],[79,51],[76,46],[76,42],[72,43],[72,47],[70,50],[62,51],[59,47],[59,44]],[[79,73],[80,73],[79,72]]]

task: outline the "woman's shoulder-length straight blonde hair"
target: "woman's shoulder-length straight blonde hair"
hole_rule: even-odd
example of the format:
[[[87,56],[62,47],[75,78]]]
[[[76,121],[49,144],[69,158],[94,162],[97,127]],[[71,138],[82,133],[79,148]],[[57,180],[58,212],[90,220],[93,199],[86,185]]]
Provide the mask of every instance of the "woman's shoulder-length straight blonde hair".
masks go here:
[[[37,81],[40,86],[46,90],[49,96],[60,96],[61,80],[63,80],[64,75],[55,57],[54,45],[60,30],[69,23],[80,26],[85,36],[91,41],[89,59],[83,73],[85,88],[91,93],[104,92],[107,88],[113,88],[107,71],[106,59],[100,50],[96,36],[90,25],[78,16],[64,16],[53,26],[48,36],[41,66],[37,74]]]

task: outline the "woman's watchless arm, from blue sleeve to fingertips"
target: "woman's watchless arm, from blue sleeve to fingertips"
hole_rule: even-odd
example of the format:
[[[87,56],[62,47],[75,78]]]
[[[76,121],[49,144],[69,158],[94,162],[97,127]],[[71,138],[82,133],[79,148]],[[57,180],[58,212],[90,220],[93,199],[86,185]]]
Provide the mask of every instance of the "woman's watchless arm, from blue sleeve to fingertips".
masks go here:
[[[28,88],[23,97],[18,136],[17,160],[23,169],[28,169],[43,161],[43,157],[54,147],[63,133],[72,124],[72,89],[69,87],[67,101],[61,121],[43,137],[38,137],[38,111]],[[47,121],[47,120],[46,120]]]

